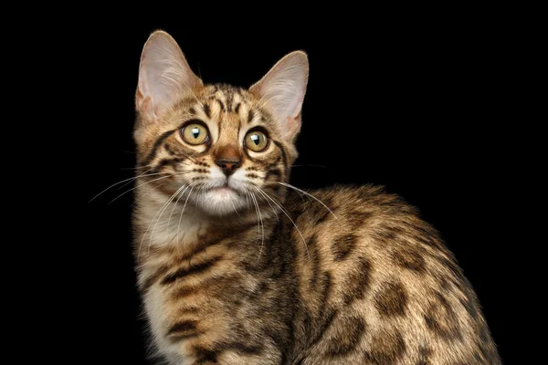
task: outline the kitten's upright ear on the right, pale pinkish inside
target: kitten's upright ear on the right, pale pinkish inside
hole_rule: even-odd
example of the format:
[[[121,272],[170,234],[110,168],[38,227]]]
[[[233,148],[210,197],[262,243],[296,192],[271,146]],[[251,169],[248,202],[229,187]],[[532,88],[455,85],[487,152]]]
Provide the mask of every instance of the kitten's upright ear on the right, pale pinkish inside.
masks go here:
[[[300,109],[308,76],[309,63],[306,53],[291,52],[281,58],[264,78],[249,89],[272,108],[287,141],[294,141],[300,131]]]

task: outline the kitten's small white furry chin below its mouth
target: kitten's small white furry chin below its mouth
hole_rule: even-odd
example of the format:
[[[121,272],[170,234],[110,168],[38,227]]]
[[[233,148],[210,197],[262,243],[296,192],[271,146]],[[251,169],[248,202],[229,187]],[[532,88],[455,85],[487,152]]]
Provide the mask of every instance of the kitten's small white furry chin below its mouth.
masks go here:
[[[227,186],[211,189],[202,195],[199,206],[206,214],[237,214],[246,205],[246,199]]]

